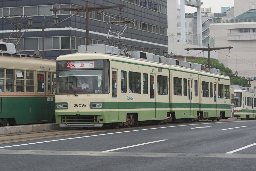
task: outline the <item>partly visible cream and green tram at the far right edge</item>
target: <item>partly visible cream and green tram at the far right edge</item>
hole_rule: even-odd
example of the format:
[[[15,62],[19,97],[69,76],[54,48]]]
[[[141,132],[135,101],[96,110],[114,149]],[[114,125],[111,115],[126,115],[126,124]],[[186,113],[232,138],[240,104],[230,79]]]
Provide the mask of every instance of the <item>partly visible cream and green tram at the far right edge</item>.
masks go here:
[[[235,117],[256,119],[256,90],[249,87],[232,86],[235,95]]]

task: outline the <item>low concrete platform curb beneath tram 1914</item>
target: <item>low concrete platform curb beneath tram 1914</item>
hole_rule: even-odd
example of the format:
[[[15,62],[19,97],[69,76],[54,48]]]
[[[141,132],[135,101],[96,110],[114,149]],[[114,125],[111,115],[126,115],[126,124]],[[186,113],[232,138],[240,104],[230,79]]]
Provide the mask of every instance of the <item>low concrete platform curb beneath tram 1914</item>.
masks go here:
[[[34,131],[57,130],[57,129],[63,129],[63,128],[59,127],[58,123],[0,127],[0,135],[23,133],[23,132],[34,132]]]

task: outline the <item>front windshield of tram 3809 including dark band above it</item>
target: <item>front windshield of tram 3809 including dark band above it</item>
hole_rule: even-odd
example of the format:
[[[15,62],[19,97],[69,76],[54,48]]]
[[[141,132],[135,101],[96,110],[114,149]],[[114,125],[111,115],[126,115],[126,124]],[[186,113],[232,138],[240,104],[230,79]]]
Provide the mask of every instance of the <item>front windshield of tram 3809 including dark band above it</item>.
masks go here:
[[[76,61],[77,62],[77,61]],[[78,61],[79,67],[81,62]],[[90,61],[91,62],[91,61]],[[58,94],[88,94],[88,93],[109,93],[109,80],[108,79],[108,68],[105,68],[105,77],[103,78],[103,61],[97,61],[101,63],[101,67],[87,67],[85,62],[82,63],[85,69],[68,68],[70,61],[59,62],[58,64]],[[96,63],[96,61],[92,61]],[[60,66],[60,64],[64,64]],[[77,64],[77,63],[75,63]],[[63,67],[64,66],[64,67]],[[100,65],[98,65],[100,66]],[[61,70],[60,70],[61,69]],[[65,70],[62,70],[65,69]],[[104,81],[105,80],[105,81]],[[103,88],[104,86],[104,88]]]

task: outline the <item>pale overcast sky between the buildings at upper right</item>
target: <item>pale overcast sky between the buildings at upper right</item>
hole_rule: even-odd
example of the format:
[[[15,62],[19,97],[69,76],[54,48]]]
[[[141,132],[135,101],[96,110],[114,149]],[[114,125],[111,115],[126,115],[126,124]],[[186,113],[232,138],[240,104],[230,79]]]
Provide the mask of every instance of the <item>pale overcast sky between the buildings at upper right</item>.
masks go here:
[[[211,7],[212,13],[221,12],[221,7],[234,6],[234,0],[201,0],[203,5],[201,8]],[[185,5],[185,13],[194,13],[197,11],[196,8]]]

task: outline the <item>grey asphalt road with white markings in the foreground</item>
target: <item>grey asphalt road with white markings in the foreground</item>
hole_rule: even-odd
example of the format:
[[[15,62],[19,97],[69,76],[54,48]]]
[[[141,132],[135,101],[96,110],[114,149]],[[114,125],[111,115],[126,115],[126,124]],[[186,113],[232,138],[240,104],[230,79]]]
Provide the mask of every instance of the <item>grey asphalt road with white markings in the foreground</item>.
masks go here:
[[[256,170],[255,130],[256,121],[209,121],[69,133],[0,144],[0,168]]]

